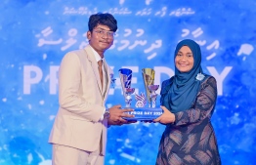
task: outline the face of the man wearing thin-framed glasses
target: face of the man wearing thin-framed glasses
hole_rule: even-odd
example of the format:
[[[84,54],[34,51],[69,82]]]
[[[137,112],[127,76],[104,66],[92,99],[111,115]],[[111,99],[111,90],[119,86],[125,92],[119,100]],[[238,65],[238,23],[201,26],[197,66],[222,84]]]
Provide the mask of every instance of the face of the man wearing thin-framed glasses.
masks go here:
[[[98,24],[92,32],[87,31],[87,38],[94,50],[104,58],[105,51],[113,43],[113,31],[107,25]]]

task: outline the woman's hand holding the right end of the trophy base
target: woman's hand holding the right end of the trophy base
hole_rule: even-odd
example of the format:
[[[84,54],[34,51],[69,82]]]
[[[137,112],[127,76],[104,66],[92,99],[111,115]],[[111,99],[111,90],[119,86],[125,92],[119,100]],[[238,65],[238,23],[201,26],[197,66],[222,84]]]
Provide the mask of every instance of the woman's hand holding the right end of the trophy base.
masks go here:
[[[162,115],[154,119],[153,122],[159,122],[161,124],[170,124],[175,122],[174,113],[170,112],[165,106],[160,106],[163,109]]]

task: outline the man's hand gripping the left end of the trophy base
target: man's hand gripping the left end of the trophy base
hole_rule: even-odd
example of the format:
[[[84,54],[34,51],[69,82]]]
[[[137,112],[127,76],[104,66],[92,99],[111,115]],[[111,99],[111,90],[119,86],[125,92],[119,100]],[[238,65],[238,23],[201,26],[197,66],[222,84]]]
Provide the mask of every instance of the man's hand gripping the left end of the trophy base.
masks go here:
[[[128,114],[126,112],[128,111],[134,111],[134,109],[131,108],[125,108],[121,109],[121,105],[114,105],[109,108],[109,118],[107,120],[108,125],[122,125],[122,124],[130,124],[135,123],[137,121],[127,121],[123,119],[122,117],[134,117],[134,115]]]

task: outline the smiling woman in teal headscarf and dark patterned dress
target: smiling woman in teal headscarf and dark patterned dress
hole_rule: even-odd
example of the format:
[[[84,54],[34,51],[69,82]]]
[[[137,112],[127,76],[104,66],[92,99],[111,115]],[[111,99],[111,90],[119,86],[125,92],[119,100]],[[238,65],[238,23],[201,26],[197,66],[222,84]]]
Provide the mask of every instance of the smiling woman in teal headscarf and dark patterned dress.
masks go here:
[[[154,122],[166,124],[156,165],[220,165],[211,116],[217,99],[214,77],[203,73],[201,51],[190,39],[175,50],[175,75],[163,81],[163,114]]]

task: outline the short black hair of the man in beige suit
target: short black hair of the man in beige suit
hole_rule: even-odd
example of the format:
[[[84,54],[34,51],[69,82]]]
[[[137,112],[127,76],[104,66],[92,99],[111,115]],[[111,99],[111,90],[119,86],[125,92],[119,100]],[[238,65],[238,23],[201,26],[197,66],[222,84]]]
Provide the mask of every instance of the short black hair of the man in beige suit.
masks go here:
[[[89,30],[93,31],[93,29],[98,24],[107,25],[110,31],[113,31],[113,32],[117,30],[117,21],[114,19],[114,17],[111,14],[108,14],[108,13],[105,13],[105,14],[98,13],[90,16],[89,22],[88,22]]]

